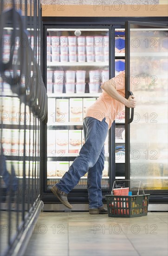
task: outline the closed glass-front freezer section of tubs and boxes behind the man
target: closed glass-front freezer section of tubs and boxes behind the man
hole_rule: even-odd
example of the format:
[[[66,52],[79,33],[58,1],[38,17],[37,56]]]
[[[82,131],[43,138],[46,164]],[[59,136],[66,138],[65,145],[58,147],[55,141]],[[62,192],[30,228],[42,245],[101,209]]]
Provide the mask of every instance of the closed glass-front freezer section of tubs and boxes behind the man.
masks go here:
[[[45,191],[59,182],[84,144],[83,117],[109,80],[109,27],[45,27],[48,94]],[[102,189],[109,189],[109,135]],[[87,174],[74,190],[87,190]]]

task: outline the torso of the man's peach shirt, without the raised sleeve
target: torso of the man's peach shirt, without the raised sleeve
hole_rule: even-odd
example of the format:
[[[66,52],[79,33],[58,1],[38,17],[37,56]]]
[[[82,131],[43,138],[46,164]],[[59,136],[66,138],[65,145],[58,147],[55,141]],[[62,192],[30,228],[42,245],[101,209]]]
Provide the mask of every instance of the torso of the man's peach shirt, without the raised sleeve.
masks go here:
[[[120,95],[125,97],[125,88],[123,88],[121,84],[116,85],[116,90]],[[84,118],[93,117],[102,121],[105,117],[105,121],[108,123],[110,129],[112,122],[116,119],[116,115],[119,114],[123,108],[124,105],[122,103],[116,101],[109,94],[103,91],[97,101],[87,109]]]

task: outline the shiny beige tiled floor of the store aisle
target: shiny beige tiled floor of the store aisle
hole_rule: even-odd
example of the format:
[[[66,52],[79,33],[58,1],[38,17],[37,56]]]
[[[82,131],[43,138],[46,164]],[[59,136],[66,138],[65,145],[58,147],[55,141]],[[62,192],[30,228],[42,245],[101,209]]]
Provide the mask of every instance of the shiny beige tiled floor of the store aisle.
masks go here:
[[[42,212],[24,256],[167,256],[168,213]]]

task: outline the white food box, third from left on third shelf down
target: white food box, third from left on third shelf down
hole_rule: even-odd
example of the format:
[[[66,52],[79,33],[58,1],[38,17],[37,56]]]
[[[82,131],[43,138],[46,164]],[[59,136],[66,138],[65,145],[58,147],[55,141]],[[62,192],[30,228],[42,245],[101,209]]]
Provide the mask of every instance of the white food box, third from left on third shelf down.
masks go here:
[[[70,99],[70,122],[83,121],[83,99],[71,98]]]

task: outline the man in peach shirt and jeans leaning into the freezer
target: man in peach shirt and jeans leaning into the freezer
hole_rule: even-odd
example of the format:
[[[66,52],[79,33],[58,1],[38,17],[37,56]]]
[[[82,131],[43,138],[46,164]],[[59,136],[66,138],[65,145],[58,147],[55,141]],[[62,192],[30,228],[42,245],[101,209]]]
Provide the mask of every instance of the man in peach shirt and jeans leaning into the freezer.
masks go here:
[[[115,116],[119,114],[124,105],[135,108],[134,96],[125,99],[125,74],[102,84],[103,93],[97,101],[87,109],[84,117],[84,139],[79,155],[70,166],[68,172],[52,187],[52,192],[67,208],[72,209],[67,200],[67,194],[79,182],[80,178],[88,172],[87,187],[89,195],[89,213],[107,214],[103,208],[101,179],[104,168],[104,142]]]

